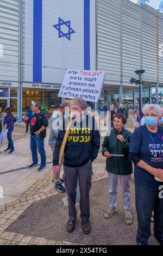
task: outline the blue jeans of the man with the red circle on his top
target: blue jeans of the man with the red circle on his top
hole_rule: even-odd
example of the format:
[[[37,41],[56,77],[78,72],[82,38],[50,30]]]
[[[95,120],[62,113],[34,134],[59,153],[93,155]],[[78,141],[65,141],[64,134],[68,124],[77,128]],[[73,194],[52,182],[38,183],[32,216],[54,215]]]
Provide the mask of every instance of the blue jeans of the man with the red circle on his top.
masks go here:
[[[41,157],[41,166],[46,166],[46,153],[44,149],[44,139],[41,139],[39,135],[31,135],[30,150],[32,152],[33,163],[37,164],[39,161],[37,156],[37,150],[38,150]]]

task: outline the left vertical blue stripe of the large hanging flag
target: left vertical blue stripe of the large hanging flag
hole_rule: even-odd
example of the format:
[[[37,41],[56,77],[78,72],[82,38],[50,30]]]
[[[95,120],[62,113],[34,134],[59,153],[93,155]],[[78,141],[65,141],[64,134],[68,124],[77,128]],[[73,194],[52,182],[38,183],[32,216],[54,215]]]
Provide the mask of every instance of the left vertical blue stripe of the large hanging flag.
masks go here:
[[[34,0],[33,82],[42,82],[42,0]]]

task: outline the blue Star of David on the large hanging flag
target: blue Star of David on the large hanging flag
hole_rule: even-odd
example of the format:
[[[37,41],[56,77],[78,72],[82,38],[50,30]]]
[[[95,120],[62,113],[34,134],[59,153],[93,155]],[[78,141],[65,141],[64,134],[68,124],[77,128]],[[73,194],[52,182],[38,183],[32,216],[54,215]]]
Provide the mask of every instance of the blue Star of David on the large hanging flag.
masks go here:
[[[68,33],[64,33],[61,31],[61,26],[65,25],[68,28]],[[54,28],[56,28],[59,31],[59,38],[66,37],[68,40],[71,41],[71,34],[76,33],[72,28],[71,28],[71,21],[63,21],[59,17],[59,22],[56,25],[53,25]]]

